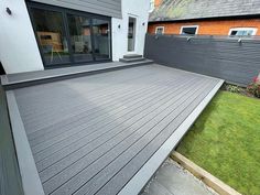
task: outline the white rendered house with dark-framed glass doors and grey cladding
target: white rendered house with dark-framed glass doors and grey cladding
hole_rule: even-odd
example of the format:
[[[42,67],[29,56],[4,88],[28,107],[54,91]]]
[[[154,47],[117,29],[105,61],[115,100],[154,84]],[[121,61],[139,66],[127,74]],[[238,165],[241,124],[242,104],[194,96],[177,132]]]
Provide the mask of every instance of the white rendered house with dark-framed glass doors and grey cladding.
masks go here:
[[[7,74],[143,54],[150,0],[2,0]]]

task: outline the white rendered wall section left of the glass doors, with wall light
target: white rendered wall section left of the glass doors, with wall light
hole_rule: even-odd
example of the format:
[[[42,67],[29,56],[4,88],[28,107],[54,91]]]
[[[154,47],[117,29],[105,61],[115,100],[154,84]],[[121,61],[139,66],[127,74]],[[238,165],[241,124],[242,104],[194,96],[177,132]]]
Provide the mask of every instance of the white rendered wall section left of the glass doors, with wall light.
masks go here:
[[[0,1],[0,61],[8,74],[43,69],[24,0]]]

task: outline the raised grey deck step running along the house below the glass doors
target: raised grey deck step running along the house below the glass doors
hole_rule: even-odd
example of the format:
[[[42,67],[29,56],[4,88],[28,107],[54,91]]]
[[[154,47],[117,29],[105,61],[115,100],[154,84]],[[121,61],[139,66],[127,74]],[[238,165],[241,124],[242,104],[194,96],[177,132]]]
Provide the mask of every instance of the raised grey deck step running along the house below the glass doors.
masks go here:
[[[97,73],[111,72],[116,69],[123,69],[140,65],[151,64],[152,61],[145,59],[143,62],[121,63],[109,62],[94,65],[71,66],[56,69],[35,71],[28,73],[17,73],[1,76],[1,85],[4,89],[21,88],[30,85],[39,85],[61,79],[68,79],[79,76],[87,76]]]

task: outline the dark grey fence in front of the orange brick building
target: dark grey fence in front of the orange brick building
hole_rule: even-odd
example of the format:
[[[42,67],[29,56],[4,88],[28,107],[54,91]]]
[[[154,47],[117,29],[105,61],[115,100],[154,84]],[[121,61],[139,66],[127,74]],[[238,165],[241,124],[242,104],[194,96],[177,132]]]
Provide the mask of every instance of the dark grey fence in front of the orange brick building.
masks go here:
[[[248,85],[260,72],[260,41],[151,35],[144,56],[155,63]]]

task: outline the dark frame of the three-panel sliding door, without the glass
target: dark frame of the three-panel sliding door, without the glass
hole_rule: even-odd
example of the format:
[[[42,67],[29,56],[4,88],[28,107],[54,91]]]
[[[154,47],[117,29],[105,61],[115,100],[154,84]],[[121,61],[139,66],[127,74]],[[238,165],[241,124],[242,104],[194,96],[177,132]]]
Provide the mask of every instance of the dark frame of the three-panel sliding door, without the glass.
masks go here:
[[[52,67],[64,67],[64,66],[75,66],[75,65],[88,65],[88,64],[99,64],[99,63],[106,63],[106,62],[112,62],[112,32],[111,32],[111,17],[105,17],[100,14],[95,14],[95,13],[89,13],[89,12],[84,12],[80,10],[73,10],[68,8],[63,8],[63,7],[56,7],[56,6],[51,6],[51,4],[45,4],[45,3],[39,3],[39,2],[32,2],[32,1],[26,1],[26,7],[28,7],[28,12],[31,19],[31,23],[33,26],[34,31],[34,36],[37,42],[37,47],[42,57],[42,62],[45,68],[52,68]],[[69,53],[69,61],[68,63],[55,63],[55,64],[46,64],[43,51],[41,48],[40,40],[36,34],[36,26],[35,22],[32,15],[32,9],[42,9],[46,11],[56,11],[62,13],[63,17],[63,30],[65,32],[65,36],[67,40],[68,44],[68,53]],[[71,44],[71,36],[69,36],[69,30],[68,30],[68,20],[67,20],[67,14],[74,14],[74,15],[79,15],[79,17],[87,17],[89,18],[90,21],[90,39],[91,39],[91,47],[94,48],[94,33],[93,33],[93,19],[100,19],[108,21],[109,25],[109,58],[107,59],[96,59],[95,57],[95,51],[93,51],[93,61],[86,61],[86,62],[75,62],[73,57],[73,51],[72,51],[72,44]]]

